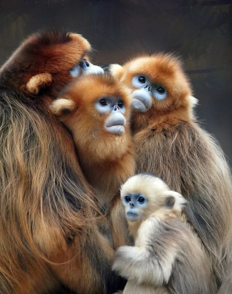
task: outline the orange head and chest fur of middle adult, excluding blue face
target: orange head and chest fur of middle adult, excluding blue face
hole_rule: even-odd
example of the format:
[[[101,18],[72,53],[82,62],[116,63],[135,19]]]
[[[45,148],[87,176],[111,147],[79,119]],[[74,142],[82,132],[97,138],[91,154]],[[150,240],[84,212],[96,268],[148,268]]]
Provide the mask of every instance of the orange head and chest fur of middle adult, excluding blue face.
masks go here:
[[[121,135],[105,130],[109,113],[96,111],[95,102],[106,95],[124,101],[127,123]],[[71,131],[81,167],[102,204],[109,204],[120,184],[134,173],[129,105],[127,90],[108,75],[77,79],[51,104],[52,112]]]

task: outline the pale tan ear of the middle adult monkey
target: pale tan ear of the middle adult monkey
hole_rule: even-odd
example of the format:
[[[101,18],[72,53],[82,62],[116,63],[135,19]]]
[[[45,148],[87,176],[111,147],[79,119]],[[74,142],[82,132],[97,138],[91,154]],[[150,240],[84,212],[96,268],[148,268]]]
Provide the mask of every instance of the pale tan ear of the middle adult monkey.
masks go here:
[[[75,106],[75,102],[70,99],[58,98],[49,107],[54,115],[62,117],[72,112]]]

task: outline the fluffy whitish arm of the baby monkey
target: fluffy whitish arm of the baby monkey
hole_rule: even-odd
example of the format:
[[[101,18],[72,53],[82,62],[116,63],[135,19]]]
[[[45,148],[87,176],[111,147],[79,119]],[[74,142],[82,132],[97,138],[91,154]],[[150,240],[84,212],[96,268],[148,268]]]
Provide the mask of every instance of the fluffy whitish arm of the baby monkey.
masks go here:
[[[116,250],[113,270],[139,284],[162,286],[170,278],[173,262],[170,252],[159,256],[153,247],[121,246]]]

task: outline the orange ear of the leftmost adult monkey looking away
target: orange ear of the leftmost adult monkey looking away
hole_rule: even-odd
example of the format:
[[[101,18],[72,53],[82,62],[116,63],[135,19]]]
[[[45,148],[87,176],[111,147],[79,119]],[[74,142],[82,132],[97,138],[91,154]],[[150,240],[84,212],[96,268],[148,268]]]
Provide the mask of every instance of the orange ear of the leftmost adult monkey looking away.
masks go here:
[[[49,72],[43,72],[32,76],[26,84],[26,90],[30,94],[37,95],[42,88],[50,86],[52,76]]]

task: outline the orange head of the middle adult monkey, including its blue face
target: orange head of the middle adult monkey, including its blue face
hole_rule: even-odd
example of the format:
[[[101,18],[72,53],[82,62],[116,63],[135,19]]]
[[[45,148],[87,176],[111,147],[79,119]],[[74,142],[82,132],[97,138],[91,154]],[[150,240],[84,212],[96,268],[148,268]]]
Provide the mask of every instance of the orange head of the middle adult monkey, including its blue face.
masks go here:
[[[76,145],[93,158],[120,157],[129,143],[130,95],[107,74],[80,77],[50,106]]]

